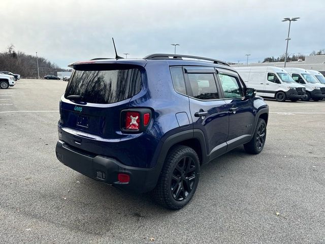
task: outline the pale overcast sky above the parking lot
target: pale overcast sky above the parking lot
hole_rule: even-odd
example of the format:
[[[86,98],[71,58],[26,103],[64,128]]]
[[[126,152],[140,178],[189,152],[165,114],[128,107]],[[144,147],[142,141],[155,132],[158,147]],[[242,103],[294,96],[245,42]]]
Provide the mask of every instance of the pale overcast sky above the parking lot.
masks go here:
[[[177,53],[246,62],[325,48],[325,0],[2,0],[0,51],[36,51],[62,68],[117,52]]]

